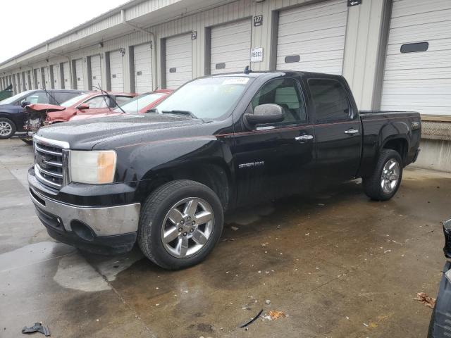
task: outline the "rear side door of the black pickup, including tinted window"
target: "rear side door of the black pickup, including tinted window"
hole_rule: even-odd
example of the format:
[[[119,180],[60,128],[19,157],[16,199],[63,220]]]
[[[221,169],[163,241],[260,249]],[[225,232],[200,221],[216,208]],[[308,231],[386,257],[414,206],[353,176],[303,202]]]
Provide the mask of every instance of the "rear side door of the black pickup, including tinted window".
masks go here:
[[[349,180],[357,173],[362,130],[355,104],[342,82],[308,80],[314,110],[318,182]]]

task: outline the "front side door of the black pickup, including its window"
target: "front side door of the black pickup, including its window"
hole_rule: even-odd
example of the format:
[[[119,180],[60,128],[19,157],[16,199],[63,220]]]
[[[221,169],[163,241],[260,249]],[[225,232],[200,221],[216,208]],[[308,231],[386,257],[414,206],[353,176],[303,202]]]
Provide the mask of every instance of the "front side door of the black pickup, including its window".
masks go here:
[[[280,123],[235,130],[237,205],[257,204],[309,188],[314,165],[314,127],[309,123],[297,79],[282,77],[264,84],[246,113],[261,104],[283,108]],[[243,114],[244,115],[244,114]]]

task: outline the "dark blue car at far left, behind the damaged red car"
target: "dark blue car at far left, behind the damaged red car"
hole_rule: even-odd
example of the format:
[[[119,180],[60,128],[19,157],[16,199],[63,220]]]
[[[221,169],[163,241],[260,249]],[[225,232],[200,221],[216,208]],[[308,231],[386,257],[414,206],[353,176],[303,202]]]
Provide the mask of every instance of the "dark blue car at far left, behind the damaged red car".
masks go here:
[[[0,101],[0,139],[13,137],[16,132],[25,132],[29,104],[59,104],[84,93],[80,90],[48,89],[27,90]]]

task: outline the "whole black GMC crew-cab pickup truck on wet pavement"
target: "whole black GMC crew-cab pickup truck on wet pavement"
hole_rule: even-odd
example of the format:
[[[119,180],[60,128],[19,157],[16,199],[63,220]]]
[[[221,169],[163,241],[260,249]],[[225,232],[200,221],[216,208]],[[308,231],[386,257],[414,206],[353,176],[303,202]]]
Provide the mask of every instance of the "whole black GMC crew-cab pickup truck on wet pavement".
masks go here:
[[[390,199],[420,134],[419,113],[359,112],[341,76],[215,75],[146,114],[40,129],[28,182],[51,237],[97,253],[137,242],[179,269],[206,257],[233,208],[357,177]]]

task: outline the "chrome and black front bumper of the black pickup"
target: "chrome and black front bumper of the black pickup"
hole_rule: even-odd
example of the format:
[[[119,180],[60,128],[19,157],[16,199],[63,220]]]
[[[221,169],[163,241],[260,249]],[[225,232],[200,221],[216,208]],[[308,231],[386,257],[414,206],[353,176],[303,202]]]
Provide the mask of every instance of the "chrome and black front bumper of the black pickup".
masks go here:
[[[89,207],[52,199],[40,193],[30,177],[30,198],[50,236],[95,253],[130,251],[136,242],[140,204]]]

